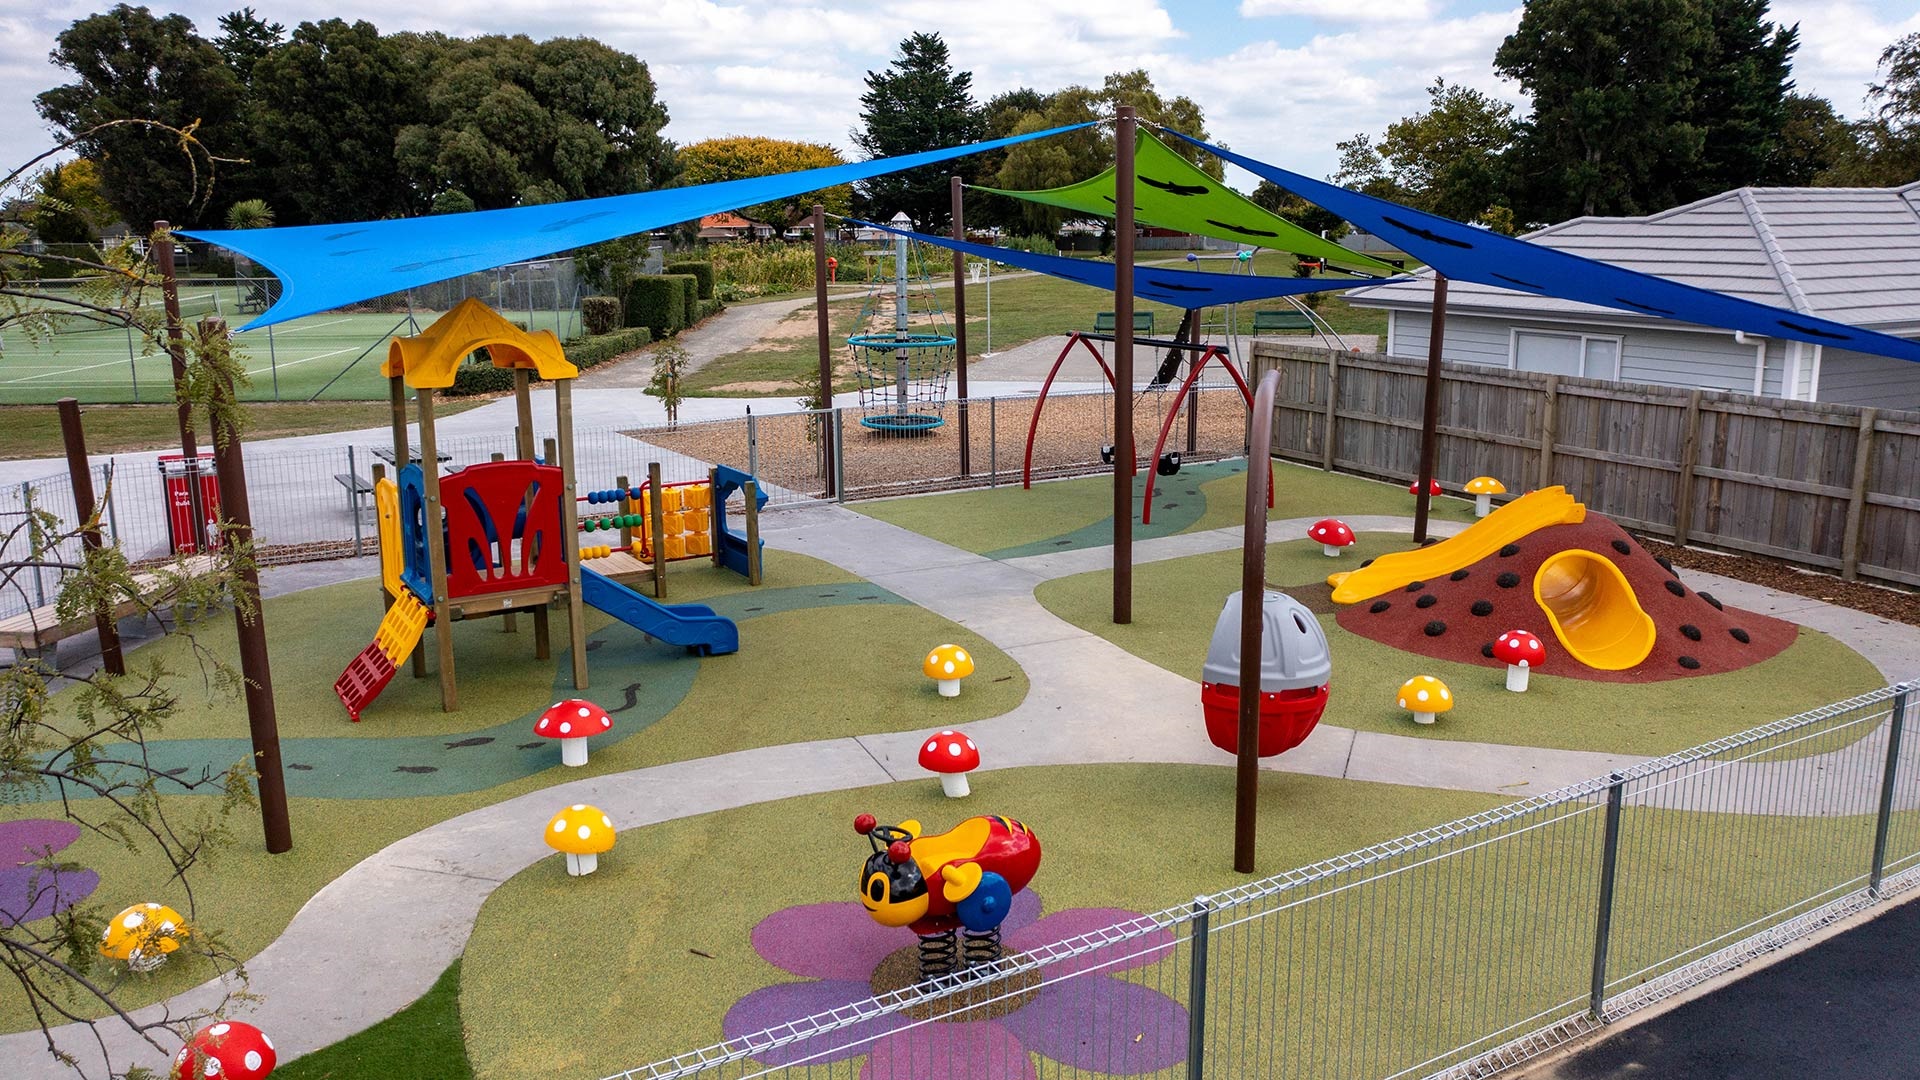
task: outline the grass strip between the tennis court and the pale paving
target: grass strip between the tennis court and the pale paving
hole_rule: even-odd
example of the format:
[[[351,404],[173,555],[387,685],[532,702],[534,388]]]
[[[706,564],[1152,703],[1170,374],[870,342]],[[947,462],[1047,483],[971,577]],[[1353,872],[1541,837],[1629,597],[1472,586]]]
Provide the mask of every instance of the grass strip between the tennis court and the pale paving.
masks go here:
[[[440,400],[434,413],[447,417],[484,404],[484,398]],[[384,427],[394,417],[386,402],[250,402],[244,411],[250,440]],[[180,448],[180,413],[173,405],[86,407],[81,417],[88,454]],[[0,459],[60,457],[63,452],[60,413],[52,405],[0,407]]]

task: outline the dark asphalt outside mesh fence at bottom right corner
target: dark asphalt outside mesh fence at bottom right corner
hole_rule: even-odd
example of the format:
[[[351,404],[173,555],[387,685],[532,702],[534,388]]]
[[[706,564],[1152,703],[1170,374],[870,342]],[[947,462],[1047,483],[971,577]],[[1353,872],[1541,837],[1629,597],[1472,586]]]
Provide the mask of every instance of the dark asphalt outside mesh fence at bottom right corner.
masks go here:
[[[1540,1080],[1920,1078],[1920,903],[1596,1043]]]

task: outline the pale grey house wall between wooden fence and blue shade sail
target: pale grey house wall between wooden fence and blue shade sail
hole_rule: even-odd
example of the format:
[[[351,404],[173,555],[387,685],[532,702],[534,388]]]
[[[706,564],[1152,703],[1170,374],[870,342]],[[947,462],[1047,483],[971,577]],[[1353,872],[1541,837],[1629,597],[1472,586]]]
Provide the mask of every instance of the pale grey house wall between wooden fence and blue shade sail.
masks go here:
[[[1430,319],[1425,311],[1394,311],[1388,354],[1425,357]],[[1513,365],[1513,331],[1549,334],[1592,334],[1620,338],[1620,380],[1653,386],[1730,390],[1753,394],[1761,340],[1740,344],[1732,334],[1659,331],[1644,327],[1601,327],[1578,323],[1511,321],[1476,315],[1448,315],[1446,357],[1457,363]],[[1788,367],[1786,342],[1768,340],[1761,394],[1780,394]],[[1812,350],[1807,350],[1807,373]],[[1803,384],[1805,384],[1803,377]]]

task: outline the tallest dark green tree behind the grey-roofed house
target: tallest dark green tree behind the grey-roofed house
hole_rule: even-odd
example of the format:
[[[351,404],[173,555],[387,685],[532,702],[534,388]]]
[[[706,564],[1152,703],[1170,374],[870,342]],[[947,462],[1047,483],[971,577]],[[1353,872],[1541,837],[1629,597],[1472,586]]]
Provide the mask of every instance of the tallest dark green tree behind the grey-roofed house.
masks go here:
[[[1521,217],[1682,202],[1705,146],[1690,106],[1709,33],[1697,0],[1528,0],[1494,54],[1494,69],[1532,96],[1517,146]]]

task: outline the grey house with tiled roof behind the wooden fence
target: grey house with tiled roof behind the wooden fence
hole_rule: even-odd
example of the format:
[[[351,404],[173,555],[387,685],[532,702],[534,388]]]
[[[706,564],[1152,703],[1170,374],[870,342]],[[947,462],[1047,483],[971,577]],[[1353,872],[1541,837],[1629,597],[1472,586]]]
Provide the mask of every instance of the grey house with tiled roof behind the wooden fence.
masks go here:
[[[1759,304],[1920,338],[1920,183],[1738,188],[1647,217],[1576,217],[1530,242]],[[1384,352],[1427,357],[1432,273],[1359,288]],[[1586,379],[1920,409],[1920,363],[1448,282],[1444,357]]]

